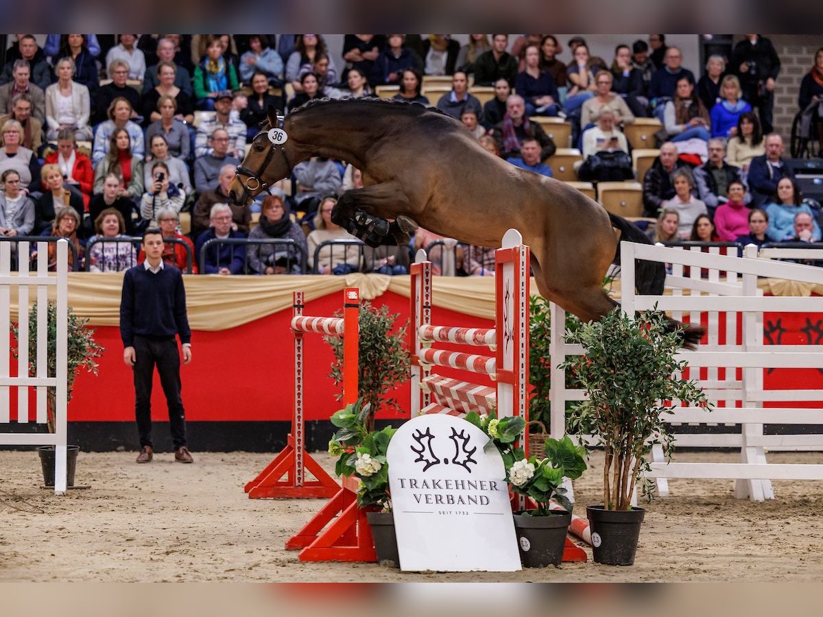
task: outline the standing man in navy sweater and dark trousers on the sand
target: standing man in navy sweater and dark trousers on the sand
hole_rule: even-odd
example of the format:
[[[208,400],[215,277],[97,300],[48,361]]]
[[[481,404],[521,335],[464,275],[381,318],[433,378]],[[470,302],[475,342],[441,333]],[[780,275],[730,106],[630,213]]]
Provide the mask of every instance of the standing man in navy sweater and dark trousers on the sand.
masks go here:
[[[123,276],[120,337],[123,361],[134,371],[135,415],[140,434],[138,463],[151,462],[151,378],[155,366],[169,406],[174,460],[194,462],[186,446],[183,398],[180,396],[180,356],[175,336],[183,343],[183,362],[192,361],[192,332],[186,315],[183,276],[163,262],[163,235],[157,228],[143,233],[146,261]]]

